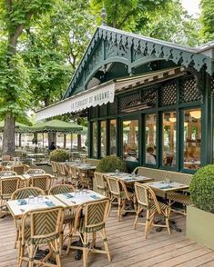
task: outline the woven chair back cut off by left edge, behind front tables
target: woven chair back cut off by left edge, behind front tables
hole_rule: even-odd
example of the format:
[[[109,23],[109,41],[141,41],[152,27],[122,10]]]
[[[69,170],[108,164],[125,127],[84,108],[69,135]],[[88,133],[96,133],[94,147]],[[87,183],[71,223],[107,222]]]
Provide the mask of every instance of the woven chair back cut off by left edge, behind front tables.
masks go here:
[[[7,177],[0,179],[0,194],[2,199],[10,198],[11,195],[18,189],[20,177]]]

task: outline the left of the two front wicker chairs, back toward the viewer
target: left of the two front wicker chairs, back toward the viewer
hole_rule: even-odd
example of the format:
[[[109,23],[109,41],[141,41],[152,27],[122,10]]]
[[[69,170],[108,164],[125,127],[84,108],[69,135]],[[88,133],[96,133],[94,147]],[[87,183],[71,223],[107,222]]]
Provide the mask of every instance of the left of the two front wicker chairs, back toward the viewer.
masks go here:
[[[24,214],[19,234],[21,246],[18,254],[18,266],[22,266],[22,263],[26,261],[29,262],[29,267],[33,267],[35,263],[39,266],[61,267],[58,237],[62,227],[62,219],[62,207],[47,208]],[[36,260],[35,254],[40,244],[46,244],[49,253],[43,260]],[[25,256],[25,248],[27,248],[28,257]],[[47,262],[53,253],[56,257],[56,264]]]

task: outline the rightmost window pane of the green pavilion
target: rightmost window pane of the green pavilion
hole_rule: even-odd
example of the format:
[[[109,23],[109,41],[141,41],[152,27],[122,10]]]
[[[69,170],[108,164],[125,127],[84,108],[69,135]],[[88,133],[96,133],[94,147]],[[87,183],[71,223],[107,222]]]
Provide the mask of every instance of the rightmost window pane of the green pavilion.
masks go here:
[[[200,166],[200,117],[200,109],[184,111],[184,168],[186,169],[198,169]]]

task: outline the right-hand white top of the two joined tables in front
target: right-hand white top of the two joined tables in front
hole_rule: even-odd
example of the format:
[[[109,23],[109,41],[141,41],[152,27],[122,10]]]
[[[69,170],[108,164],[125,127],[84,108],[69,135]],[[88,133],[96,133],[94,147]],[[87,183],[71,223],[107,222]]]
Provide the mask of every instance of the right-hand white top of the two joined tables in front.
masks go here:
[[[68,193],[70,197],[66,196],[66,193],[55,194],[56,199],[65,203],[68,207],[76,207],[83,203],[94,202],[97,200],[106,199],[107,197],[92,190],[76,190],[75,192]]]

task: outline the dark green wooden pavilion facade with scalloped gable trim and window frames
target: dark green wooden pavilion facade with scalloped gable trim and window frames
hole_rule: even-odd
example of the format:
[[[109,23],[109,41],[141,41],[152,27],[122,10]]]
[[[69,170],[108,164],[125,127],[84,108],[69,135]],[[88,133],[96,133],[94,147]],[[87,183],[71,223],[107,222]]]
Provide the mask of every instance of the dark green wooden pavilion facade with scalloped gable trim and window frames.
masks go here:
[[[201,165],[213,163],[213,120],[214,120],[214,61],[213,46],[209,48],[189,48],[178,44],[129,34],[107,26],[97,28],[87,52],[83,56],[76,73],[64,95],[71,95],[89,89],[93,79],[102,84],[118,77],[184,66],[185,72],[176,78],[136,87],[128,92],[116,94],[113,104],[88,109],[89,156],[92,157],[92,124],[97,122],[97,158],[100,154],[100,122],[107,122],[107,154],[109,154],[109,121],[117,120],[117,155],[122,156],[122,122],[129,118],[138,120],[138,163],[145,162],[145,115],[157,115],[157,164],[150,167],[173,169],[179,172],[191,172],[183,166],[184,116],[183,112],[191,108],[201,109]],[[96,79],[95,79],[96,78]],[[123,109],[130,100],[151,97],[152,108],[133,113],[124,113]],[[162,114],[177,112],[177,156],[176,167],[162,165]]]

